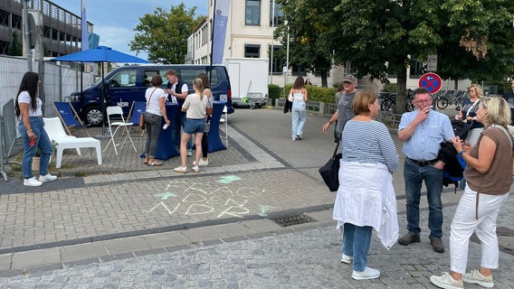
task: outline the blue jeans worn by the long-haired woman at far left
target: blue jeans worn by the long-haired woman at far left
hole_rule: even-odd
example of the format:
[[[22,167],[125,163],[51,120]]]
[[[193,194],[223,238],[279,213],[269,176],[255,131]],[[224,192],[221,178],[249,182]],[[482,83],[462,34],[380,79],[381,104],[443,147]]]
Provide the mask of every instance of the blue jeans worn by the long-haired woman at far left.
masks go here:
[[[48,173],[48,163],[50,163],[50,156],[52,155],[52,142],[50,137],[44,131],[43,117],[30,117],[31,129],[36,136],[35,144],[31,146],[31,140],[27,135],[27,130],[24,126],[24,121],[20,121],[18,124],[18,132],[22,135],[24,140],[24,156],[22,159],[22,174],[24,179],[30,179],[33,177],[32,162],[33,157],[36,154],[37,148],[41,152],[39,159],[39,174],[45,175]]]

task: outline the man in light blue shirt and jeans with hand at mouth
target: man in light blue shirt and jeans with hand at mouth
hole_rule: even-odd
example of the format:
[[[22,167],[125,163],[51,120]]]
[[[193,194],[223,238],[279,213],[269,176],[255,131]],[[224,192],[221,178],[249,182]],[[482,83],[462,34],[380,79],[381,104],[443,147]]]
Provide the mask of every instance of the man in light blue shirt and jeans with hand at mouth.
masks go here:
[[[443,253],[443,167],[437,159],[443,141],[449,141],[453,134],[450,118],[432,110],[432,98],[428,89],[414,89],[413,105],[417,109],[402,116],[398,126],[398,138],[404,142],[404,179],[407,210],[407,230],[398,239],[401,245],[420,241],[419,202],[422,183],[426,186],[428,200],[428,228],[430,244],[435,252]]]

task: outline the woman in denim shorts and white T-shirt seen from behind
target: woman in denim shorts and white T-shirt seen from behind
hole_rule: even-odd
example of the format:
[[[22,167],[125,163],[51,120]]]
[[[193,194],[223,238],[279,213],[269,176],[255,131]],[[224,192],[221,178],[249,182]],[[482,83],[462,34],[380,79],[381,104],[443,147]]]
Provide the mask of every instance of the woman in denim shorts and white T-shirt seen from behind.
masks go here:
[[[186,165],[186,144],[191,139],[191,135],[195,135],[195,163],[191,169],[193,172],[200,172],[197,163],[200,162],[202,156],[202,136],[205,132],[205,117],[213,113],[213,107],[209,103],[209,99],[204,96],[204,84],[202,79],[193,81],[194,94],[187,96],[182,111],[186,113],[186,126],[184,126],[184,134],[180,140],[180,162],[181,165],[173,169],[175,172],[187,172]]]

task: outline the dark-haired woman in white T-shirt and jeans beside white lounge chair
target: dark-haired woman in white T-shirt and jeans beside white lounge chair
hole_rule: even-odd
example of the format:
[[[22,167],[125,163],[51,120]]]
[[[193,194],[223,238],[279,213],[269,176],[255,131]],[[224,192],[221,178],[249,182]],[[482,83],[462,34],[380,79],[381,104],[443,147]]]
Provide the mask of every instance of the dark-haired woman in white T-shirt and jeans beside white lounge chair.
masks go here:
[[[38,187],[43,182],[57,180],[57,177],[48,172],[50,155],[52,155],[52,142],[44,130],[43,101],[38,97],[38,87],[41,84],[39,75],[35,72],[26,72],[15,101],[16,117],[21,117],[18,132],[24,140],[24,156],[22,159],[22,172],[24,186]],[[33,176],[32,163],[37,151],[41,151],[39,160],[39,180]]]

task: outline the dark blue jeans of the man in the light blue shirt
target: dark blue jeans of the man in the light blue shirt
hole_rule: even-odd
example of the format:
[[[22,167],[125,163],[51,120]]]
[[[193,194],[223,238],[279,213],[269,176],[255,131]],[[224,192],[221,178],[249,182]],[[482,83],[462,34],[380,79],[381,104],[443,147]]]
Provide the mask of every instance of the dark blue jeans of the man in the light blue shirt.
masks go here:
[[[421,233],[419,228],[419,202],[421,198],[422,182],[426,186],[428,200],[428,228],[430,239],[443,237],[443,170],[433,167],[432,164],[419,166],[405,158],[404,167],[405,197],[407,210],[407,230],[415,235]]]

